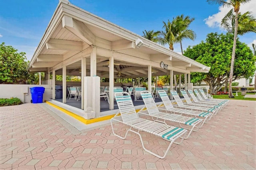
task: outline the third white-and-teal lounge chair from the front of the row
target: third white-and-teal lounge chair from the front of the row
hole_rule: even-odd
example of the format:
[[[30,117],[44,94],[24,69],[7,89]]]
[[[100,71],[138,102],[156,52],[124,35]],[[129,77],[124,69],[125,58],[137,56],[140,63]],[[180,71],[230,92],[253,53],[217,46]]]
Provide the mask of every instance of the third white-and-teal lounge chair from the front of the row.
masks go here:
[[[175,91],[175,90],[174,90]],[[172,102],[170,101],[168,95],[164,90],[159,91],[160,98],[162,99],[162,102],[164,104],[164,107],[167,111],[171,113],[178,113],[178,114],[186,114],[190,115],[192,117],[198,117],[200,119],[204,119],[203,123],[205,121],[209,121],[214,114],[213,111],[208,111],[207,109],[204,109],[204,107],[194,107],[194,106],[188,106],[188,105],[183,105],[183,106],[173,106]],[[177,94],[178,96],[178,94]],[[178,96],[179,97],[179,96]],[[180,97],[179,97],[180,98]],[[159,105],[159,108],[162,107]]]

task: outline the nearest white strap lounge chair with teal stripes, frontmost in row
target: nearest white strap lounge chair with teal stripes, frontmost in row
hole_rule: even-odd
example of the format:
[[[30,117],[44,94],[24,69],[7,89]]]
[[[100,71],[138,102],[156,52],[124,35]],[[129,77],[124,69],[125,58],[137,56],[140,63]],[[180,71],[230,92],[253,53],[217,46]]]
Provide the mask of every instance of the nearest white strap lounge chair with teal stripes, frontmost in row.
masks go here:
[[[130,95],[127,92],[116,93],[115,96],[116,96],[116,102],[119,107],[119,111],[110,120],[112,131],[115,136],[117,136],[121,139],[126,139],[127,133],[129,131],[137,134],[140,137],[140,141],[141,141],[143,149],[146,152],[148,152],[158,158],[166,157],[168,151],[170,150],[170,148],[172,146],[172,143],[176,143],[176,144],[182,143],[184,136],[186,135],[188,130],[182,129],[179,127],[173,127],[170,125],[166,125],[164,123],[140,118],[138,113],[136,113],[136,110],[132,103],[132,98],[130,97]],[[114,132],[115,128],[113,127],[113,121],[118,121],[120,123],[123,123],[124,125],[130,126],[130,128],[126,131],[124,137],[117,135]],[[166,149],[166,151],[164,152],[163,156],[160,156],[144,147],[142,136],[140,135],[141,131],[156,135],[157,137],[160,137],[160,138],[170,142],[170,144],[169,144],[168,148]],[[180,139],[180,141],[177,142],[176,141],[177,139]]]

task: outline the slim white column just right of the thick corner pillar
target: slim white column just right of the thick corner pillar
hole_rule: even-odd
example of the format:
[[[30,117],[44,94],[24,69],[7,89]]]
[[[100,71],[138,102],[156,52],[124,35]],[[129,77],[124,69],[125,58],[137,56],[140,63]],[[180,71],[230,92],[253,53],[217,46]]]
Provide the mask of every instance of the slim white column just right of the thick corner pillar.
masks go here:
[[[109,109],[114,109],[114,57],[109,57]]]

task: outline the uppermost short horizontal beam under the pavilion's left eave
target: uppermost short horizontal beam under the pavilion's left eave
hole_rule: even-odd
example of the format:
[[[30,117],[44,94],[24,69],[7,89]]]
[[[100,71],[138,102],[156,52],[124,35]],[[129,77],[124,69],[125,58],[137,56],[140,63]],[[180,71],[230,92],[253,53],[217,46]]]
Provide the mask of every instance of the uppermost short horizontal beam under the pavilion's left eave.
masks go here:
[[[82,51],[83,45],[81,41],[70,41],[64,39],[49,39],[46,43],[46,49]]]

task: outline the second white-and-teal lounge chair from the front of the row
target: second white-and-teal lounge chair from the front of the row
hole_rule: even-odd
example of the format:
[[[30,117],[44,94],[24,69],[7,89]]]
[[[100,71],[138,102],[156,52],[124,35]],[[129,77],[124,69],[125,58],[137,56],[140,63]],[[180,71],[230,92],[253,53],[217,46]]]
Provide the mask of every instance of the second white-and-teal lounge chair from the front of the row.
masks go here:
[[[160,108],[156,106],[156,103],[154,102],[152,94],[148,91],[141,92],[141,96],[145,106],[142,109],[140,109],[138,113],[150,115],[154,121],[162,122],[165,124],[166,124],[166,121],[172,121],[172,122],[179,123],[180,127],[182,127],[182,125],[185,125],[186,128],[185,127],[182,127],[182,128],[188,129],[189,133],[184,139],[187,139],[192,131],[197,131],[198,128],[202,127],[204,123],[203,119],[186,117],[186,116],[180,115],[184,112],[188,112],[188,110],[175,109],[176,111],[174,112],[178,114],[167,113],[165,109],[161,109],[162,111],[165,111],[165,112],[159,111]],[[163,121],[159,119],[162,119]],[[196,129],[194,129],[195,127]]]

